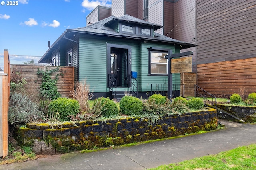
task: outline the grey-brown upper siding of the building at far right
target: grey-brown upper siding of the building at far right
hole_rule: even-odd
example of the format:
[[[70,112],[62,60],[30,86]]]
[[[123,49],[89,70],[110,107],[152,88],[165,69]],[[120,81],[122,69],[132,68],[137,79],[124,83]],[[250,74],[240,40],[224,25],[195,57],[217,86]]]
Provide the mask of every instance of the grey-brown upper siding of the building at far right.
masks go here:
[[[197,63],[256,55],[256,1],[197,1]]]

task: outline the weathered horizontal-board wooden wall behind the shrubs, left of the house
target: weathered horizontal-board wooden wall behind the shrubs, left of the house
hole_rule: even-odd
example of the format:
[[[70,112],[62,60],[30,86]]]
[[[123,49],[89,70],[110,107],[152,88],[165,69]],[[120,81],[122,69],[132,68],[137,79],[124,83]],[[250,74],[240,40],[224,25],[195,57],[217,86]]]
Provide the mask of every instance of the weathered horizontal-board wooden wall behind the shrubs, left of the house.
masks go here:
[[[36,66],[36,65],[14,65],[12,64],[12,72],[18,71],[22,74],[26,81],[28,82],[28,87],[30,89],[39,90],[40,84],[42,83],[42,75],[38,76],[36,74],[38,68],[40,70],[52,70],[57,68],[57,66]],[[62,97],[67,97],[72,90],[74,90],[74,67],[62,67],[60,66],[60,71],[52,74],[52,79],[55,78],[56,74],[59,75],[59,80],[57,81],[58,92],[60,92]]]

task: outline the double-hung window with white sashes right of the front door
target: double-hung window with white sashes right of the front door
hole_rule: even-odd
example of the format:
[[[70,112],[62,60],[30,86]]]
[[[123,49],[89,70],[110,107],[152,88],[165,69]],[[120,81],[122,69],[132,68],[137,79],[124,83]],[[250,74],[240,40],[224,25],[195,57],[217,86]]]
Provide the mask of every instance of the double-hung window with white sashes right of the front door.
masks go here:
[[[168,59],[164,56],[168,55],[167,51],[152,51],[150,50],[150,74],[151,75],[167,75],[168,74]]]

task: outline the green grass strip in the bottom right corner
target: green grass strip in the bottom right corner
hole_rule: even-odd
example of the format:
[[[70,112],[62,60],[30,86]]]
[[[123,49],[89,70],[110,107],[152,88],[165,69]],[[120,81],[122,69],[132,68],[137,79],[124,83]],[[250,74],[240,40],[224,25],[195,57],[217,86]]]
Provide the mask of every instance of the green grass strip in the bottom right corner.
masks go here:
[[[232,169],[256,169],[256,144],[238,147],[219,154],[194,158],[179,163],[161,165],[156,170],[232,170]]]

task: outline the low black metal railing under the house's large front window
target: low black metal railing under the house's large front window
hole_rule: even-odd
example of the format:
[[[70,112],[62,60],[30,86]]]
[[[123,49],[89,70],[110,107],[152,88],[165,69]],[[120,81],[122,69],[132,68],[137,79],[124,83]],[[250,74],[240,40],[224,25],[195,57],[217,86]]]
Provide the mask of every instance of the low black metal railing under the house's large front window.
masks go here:
[[[182,96],[184,97],[184,84],[172,84],[172,96],[173,98]],[[161,94],[167,96],[168,84],[151,84],[151,95]]]

